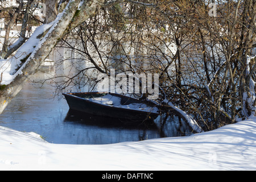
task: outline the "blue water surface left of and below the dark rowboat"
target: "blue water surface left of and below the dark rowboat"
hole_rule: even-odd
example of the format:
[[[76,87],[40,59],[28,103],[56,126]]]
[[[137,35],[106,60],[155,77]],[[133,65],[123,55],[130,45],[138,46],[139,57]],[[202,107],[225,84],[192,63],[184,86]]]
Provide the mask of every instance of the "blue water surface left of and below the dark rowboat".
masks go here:
[[[155,125],[134,124],[71,113],[51,84],[28,82],[0,115],[0,125],[35,132],[50,143],[108,144],[159,138]]]

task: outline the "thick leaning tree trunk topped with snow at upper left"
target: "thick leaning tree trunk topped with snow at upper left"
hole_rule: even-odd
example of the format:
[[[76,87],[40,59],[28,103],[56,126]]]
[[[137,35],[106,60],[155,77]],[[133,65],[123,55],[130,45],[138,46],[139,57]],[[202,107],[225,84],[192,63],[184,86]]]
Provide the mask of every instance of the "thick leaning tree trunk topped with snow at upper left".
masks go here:
[[[44,2],[50,6],[47,8],[51,9],[46,12],[47,24],[39,26],[13,57],[1,60],[0,113],[19,93],[28,78],[37,71],[61,38],[93,15],[102,3],[98,0],[81,1],[81,3],[80,0],[71,0],[65,10],[55,16],[56,1]],[[52,19],[51,15],[55,19]],[[21,67],[18,71],[12,73],[19,65]]]

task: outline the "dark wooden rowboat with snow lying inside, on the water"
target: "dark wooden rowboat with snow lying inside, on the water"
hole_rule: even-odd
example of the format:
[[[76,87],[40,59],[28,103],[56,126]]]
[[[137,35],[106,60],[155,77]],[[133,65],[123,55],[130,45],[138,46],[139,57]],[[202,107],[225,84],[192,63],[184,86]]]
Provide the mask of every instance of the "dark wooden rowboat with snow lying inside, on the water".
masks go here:
[[[158,109],[151,102],[115,93],[63,93],[69,109],[102,117],[144,121],[158,117]]]

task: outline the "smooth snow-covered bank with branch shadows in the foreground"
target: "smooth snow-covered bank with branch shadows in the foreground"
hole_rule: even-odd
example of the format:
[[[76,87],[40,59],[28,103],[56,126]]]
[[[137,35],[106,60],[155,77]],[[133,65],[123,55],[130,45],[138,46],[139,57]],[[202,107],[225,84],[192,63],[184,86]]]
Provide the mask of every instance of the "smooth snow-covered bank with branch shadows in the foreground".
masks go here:
[[[190,137],[52,144],[0,127],[1,170],[255,170],[256,118]]]

